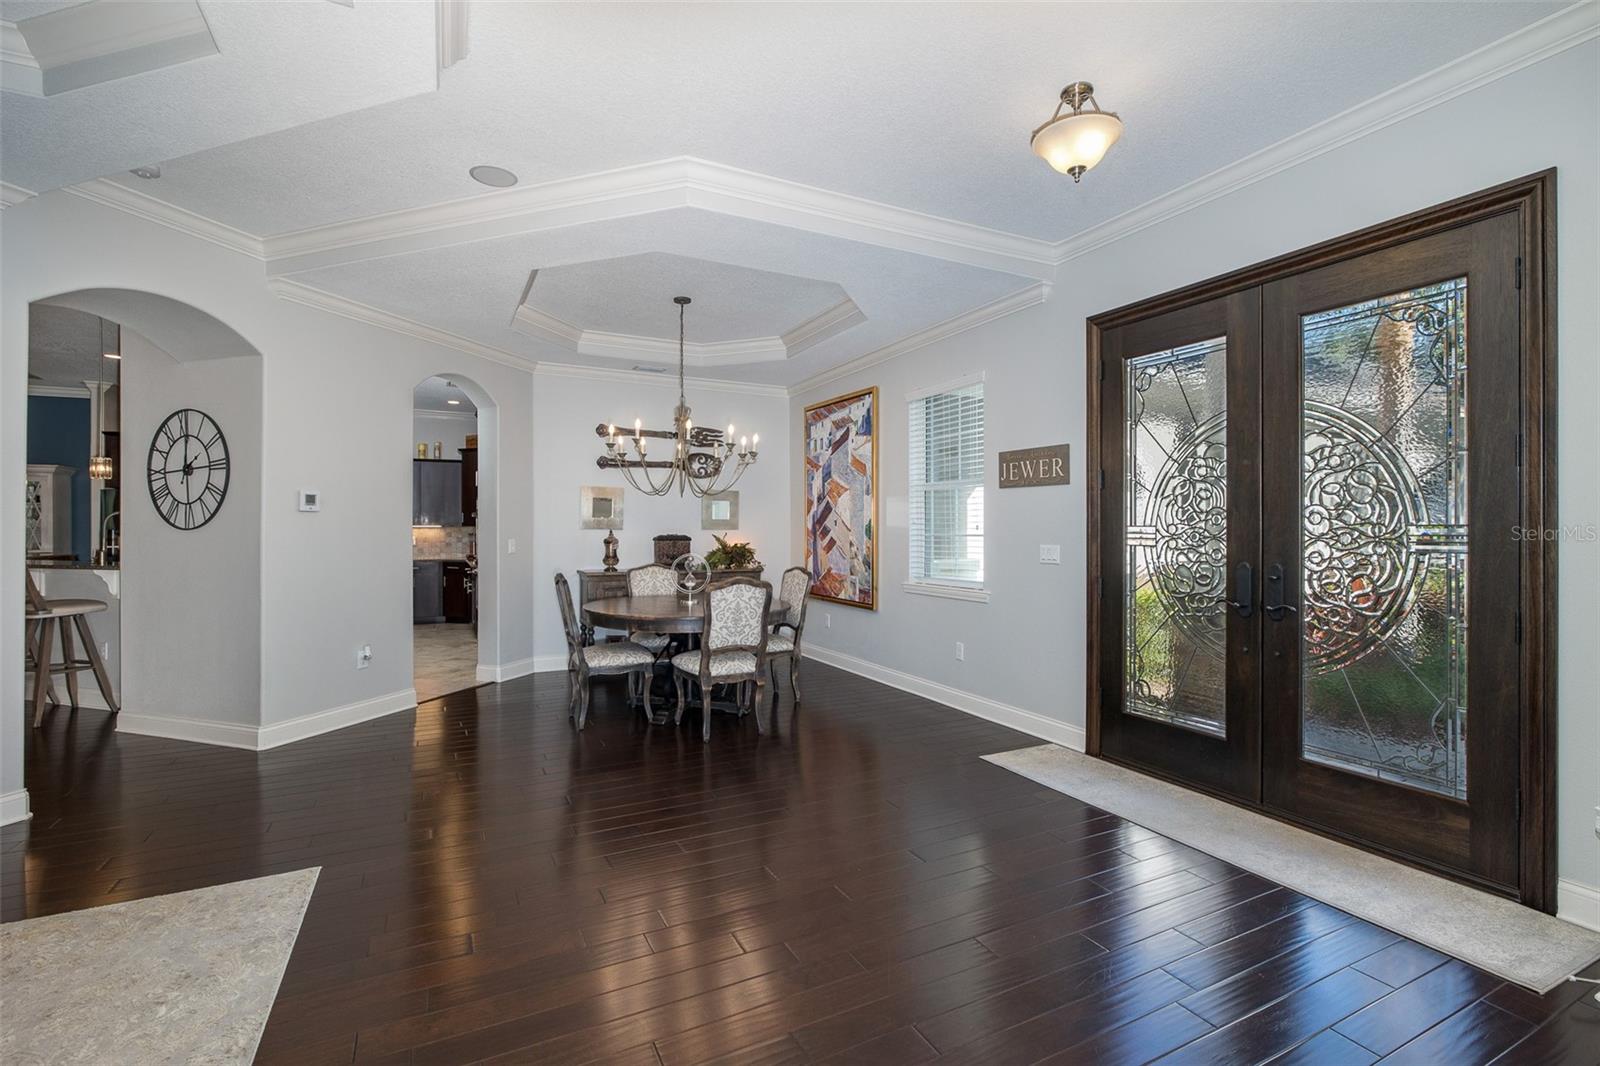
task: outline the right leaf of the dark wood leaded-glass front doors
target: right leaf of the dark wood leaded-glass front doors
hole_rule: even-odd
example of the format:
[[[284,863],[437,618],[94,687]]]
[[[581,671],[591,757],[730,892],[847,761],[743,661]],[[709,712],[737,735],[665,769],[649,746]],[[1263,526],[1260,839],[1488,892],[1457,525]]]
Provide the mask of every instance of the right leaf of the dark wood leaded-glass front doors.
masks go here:
[[[1266,287],[1264,799],[1517,885],[1510,214]]]

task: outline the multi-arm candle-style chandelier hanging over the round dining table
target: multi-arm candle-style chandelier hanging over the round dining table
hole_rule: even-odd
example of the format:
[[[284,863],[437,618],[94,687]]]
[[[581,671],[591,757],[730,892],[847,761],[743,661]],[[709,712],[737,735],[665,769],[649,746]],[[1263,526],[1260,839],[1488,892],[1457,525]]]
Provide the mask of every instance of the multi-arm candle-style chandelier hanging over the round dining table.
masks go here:
[[[696,426],[690,419],[690,405],[683,397],[683,309],[691,301],[688,296],[674,296],[672,303],[678,306],[678,407],[672,413],[672,429],[645,429],[635,418],[634,434],[629,437],[626,431],[618,435],[614,424],[595,426],[595,434],[605,437],[605,455],[595,459],[595,466],[622,471],[627,483],[646,496],[666,496],[674,488],[680,496],[685,491],[715,496],[739,483],[744,469],[755,463],[755,447],[762,443],[762,437],[739,437],[734,445],[733,423],[722,432]],[[653,440],[669,442],[669,458],[648,458]]]

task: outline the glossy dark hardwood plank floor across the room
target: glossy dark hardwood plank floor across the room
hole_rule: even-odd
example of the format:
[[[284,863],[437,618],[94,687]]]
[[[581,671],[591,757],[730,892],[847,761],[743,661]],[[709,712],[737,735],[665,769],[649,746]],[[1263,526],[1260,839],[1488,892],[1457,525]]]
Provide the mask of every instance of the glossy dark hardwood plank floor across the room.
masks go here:
[[[979,759],[806,663],[778,730],[566,682],[251,754],[54,712],[6,920],[322,866],[258,1061],[1586,1063],[1539,997]]]

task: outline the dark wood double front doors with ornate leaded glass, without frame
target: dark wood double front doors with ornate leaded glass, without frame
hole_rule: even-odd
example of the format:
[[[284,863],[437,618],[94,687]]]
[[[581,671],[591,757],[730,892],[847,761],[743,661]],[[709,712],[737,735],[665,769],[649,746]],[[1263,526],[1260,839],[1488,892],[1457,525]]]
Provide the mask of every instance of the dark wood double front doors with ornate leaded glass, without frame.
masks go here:
[[[1523,219],[1099,335],[1099,751],[1525,895]]]

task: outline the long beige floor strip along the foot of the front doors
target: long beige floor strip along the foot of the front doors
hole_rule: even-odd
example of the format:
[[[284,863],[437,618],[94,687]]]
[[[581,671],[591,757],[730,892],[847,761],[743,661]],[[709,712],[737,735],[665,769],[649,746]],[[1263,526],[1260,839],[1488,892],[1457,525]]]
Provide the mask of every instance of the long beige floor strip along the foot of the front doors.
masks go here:
[[[1102,759],[984,759],[1536,992],[1600,959],[1600,933]]]

